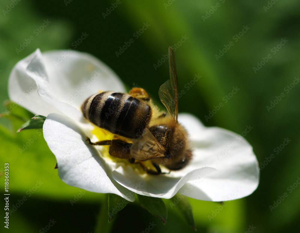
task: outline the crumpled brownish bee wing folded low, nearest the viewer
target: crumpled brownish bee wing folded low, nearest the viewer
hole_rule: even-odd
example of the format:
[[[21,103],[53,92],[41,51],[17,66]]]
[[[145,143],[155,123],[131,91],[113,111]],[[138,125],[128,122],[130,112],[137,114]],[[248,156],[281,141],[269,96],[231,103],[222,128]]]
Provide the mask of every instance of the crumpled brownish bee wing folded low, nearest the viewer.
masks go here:
[[[147,128],[143,131],[142,137],[136,139],[130,147],[131,156],[140,161],[165,157],[166,152]]]

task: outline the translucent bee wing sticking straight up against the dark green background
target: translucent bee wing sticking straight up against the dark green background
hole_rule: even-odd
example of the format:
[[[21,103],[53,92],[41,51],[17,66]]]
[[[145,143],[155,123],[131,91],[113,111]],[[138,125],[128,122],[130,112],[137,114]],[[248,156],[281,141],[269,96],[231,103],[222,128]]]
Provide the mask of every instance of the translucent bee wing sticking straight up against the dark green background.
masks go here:
[[[161,85],[158,95],[161,102],[167,108],[170,116],[177,121],[178,116],[178,82],[175,55],[171,47],[169,47],[169,68],[170,80]]]

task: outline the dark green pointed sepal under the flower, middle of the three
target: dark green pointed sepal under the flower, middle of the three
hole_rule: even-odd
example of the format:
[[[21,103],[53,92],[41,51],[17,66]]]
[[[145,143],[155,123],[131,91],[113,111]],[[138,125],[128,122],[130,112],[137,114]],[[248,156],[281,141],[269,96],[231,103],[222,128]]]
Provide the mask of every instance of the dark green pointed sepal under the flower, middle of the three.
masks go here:
[[[147,197],[143,195],[137,195],[141,205],[143,208],[149,211],[149,213],[153,214],[160,218],[164,223],[166,223],[167,219],[167,207],[164,201],[161,198],[156,197]]]

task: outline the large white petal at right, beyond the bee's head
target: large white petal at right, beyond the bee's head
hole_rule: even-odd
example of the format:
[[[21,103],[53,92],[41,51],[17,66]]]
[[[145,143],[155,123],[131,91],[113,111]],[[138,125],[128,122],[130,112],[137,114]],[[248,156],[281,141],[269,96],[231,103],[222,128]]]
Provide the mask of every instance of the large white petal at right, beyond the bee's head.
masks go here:
[[[184,114],[179,120],[187,129],[196,117]],[[198,133],[197,133],[198,132]],[[228,201],[250,195],[259,183],[259,167],[251,145],[241,136],[217,127],[195,124],[191,132],[193,161],[181,172],[204,166],[217,171],[196,181],[188,181],[179,192],[207,201]],[[190,189],[190,186],[193,186]],[[207,195],[202,198],[202,193]]]

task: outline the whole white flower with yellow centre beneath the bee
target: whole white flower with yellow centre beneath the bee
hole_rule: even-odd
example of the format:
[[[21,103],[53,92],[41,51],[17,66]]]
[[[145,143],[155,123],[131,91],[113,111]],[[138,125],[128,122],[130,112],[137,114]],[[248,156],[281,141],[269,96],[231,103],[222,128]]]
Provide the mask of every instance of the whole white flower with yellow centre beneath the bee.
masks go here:
[[[200,200],[227,201],[250,195],[257,188],[259,168],[250,144],[226,129],[205,127],[190,114],[178,116],[193,149],[193,160],[180,171],[149,175],[125,159],[109,156],[107,147],[91,146],[85,138],[88,135],[98,141],[97,134],[79,109],[99,90],[125,92],[110,68],[76,51],[42,54],[36,50],[10,74],[10,99],[47,116],[44,138],[65,183],[91,192],[114,193],[129,201],[134,201],[134,192],[159,198],[180,192]]]

